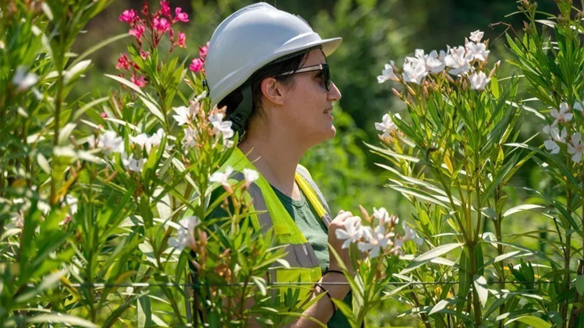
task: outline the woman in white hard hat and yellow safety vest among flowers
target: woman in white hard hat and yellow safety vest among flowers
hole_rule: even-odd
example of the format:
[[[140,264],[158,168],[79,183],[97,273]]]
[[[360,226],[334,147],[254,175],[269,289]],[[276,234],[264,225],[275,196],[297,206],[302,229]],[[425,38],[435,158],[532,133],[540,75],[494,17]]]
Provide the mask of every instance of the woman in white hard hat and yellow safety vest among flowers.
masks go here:
[[[270,270],[270,282],[311,282],[310,297],[323,295],[305,310],[329,327],[348,327],[331,301],[345,299],[350,288],[328,243],[349,263],[336,229],[347,219],[340,211],[331,219],[328,205],[310,174],[298,165],[311,146],[335,136],[332,102],[340,99],[331,82],[326,55],[342,39],[322,40],[298,16],[265,3],[246,6],[225,19],[211,37],[205,71],[211,105],[227,106],[227,119],[240,142],[224,166],[242,179],[244,168],[260,173],[249,188],[258,229],[273,229],[286,245],[289,270]],[[253,163],[253,164],[252,164]],[[316,324],[301,318],[292,327]]]

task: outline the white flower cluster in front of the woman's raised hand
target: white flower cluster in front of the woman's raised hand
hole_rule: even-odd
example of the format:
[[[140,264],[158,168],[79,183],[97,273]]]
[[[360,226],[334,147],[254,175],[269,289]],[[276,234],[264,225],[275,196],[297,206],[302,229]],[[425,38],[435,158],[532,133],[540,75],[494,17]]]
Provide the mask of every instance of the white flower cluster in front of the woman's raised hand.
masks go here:
[[[385,208],[373,209],[373,217],[370,225],[362,225],[359,217],[349,218],[345,221],[345,229],[336,230],[336,238],[345,240],[342,248],[347,248],[356,243],[361,252],[375,258],[386,254],[401,254],[401,247],[407,240],[413,240],[422,245],[423,239],[406,222],[402,222],[404,233],[398,233],[395,228],[398,225],[397,215],[390,215]]]

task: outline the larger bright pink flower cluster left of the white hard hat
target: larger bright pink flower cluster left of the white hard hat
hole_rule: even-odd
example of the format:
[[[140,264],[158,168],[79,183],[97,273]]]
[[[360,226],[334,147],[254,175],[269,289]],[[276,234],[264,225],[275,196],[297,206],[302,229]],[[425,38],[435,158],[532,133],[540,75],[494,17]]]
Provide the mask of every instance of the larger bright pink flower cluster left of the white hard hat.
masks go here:
[[[130,25],[128,34],[136,38],[142,60],[150,58],[150,51],[147,49],[157,48],[162,38],[166,35],[171,40],[169,53],[175,47],[186,48],[186,34],[180,31],[175,34],[175,30],[172,27],[178,22],[189,22],[189,15],[183,12],[182,8],[176,7],[174,15],[172,15],[168,1],[162,0],[160,1],[160,9],[150,14],[148,5],[144,2],[141,14],[142,17],[134,9],[127,9],[121,13],[119,19],[121,22]],[[149,48],[145,48],[144,43],[147,43]],[[128,72],[130,81],[140,88],[146,85],[147,79],[144,78],[141,68],[130,60],[127,54],[120,55],[116,68],[122,72]]]

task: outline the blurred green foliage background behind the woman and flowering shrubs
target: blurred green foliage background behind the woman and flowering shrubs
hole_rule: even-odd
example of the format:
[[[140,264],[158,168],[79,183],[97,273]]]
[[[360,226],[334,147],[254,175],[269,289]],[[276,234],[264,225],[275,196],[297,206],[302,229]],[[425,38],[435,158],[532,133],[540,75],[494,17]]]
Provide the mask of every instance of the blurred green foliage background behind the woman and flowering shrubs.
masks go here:
[[[187,48],[176,49],[173,53],[190,62],[198,57],[199,45],[210,39],[214,28],[230,13],[242,6],[256,1],[249,0],[171,0],[171,7],[180,6],[189,13],[190,22],[182,25],[182,32],[187,34]],[[126,23],[119,22],[118,16],[124,9],[141,8],[142,1],[116,1],[106,11],[92,20],[86,33],[79,37],[74,46],[79,53],[116,34],[126,33]],[[373,207],[385,207],[398,214],[402,219],[411,220],[409,204],[397,192],[384,187],[387,171],[378,168],[375,163],[384,163],[367,150],[364,142],[379,144],[374,128],[376,121],[381,121],[384,113],[399,113],[403,104],[391,91],[391,82],[378,84],[376,76],[381,74],[383,65],[395,60],[401,66],[404,57],[413,55],[416,48],[429,53],[432,50],[446,49],[463,45],[464,37],[480,29],[485,32],[485,39],[490,40],[491,55],[489,65],[497,60],[510,59],[506,50],[504,32],[506,25],[498,24],[489,29],[489,25],[503,22],[512,26],[508,33],[520,33],[523,17],[510,15],[517,9],[512,0],[270,0],[269,4],[291,13],[296,13],[307,20],[321,37],[343,37],[342,46],[328,58],[332,69],[332,78],[342,92],[333,115],[338,130],[336,137],[311,149],[303,159],[303,164],[311,171],[315,181],[321,187],[331,205],[333,214],[340,209],[359,212],[361,204],[369,211]],[[148,1],[153,8],[158,8],[158,1]],[[575,4],[580,6],[580,4]],[[553,1],[540,1],[538,9],[555,13]],[[176,30],[175,30],[176,32]],[[71,97],[99,97],[117,88],[112,79],[103,74],[116,74],[116,60],[126,52],[131,39],[122,39],[110,44],[93,55],[92,71],[85,76],[85,83],[79,83],[78,89]],[[512,65],[503,63],[499,77],[513,74]],[[522,81],[522,98],[527,98]],[[531,104],[531,103],[530,103]],[[180,104],[176,104],[179,106]],[[537,107],[537,104],[533,104]],[[404,115],[402,115],[404,116]],[[524,141],[538,131],[543,125],[531,114],[524,118],[522,134]],[[543,143],[538,136],[532,144]],[[550,179],[541,173],[533,162],[516,175],[515,180],[506,188],[510,206],[520,203],[538,204],[541,201],[531,199],[521,189],[531,187],[537,190],[551,188]],[[515,215],[509,219],[507,233],[524,232],[533,228],[552,228],[552,223],[535,213]],[[489,227],[487,227],[488,229]],[[541,236],[544,239],[546,236]],[[525,245],[542,249],[543,245],[526,239]],[[543,249],[542,249],[543,250]],[[416,326],[418,322],[410,318],[395,318],[392,314],[406,309],[404,303],[389,302],[383,311],[372,313],[372,326]],[[383,315],[382,315],[383,313]]]

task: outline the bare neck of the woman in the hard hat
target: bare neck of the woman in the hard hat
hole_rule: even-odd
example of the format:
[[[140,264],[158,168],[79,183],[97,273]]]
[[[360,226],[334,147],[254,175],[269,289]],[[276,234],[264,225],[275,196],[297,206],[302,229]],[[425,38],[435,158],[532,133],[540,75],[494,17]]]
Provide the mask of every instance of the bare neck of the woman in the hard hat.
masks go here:
[[[272,186],[295,200],[300,199],[300,189],[294,183],[294,175],[306,151],[304,147],[273,131],[260,133],[252,130],[248,131],[238,148]]]

